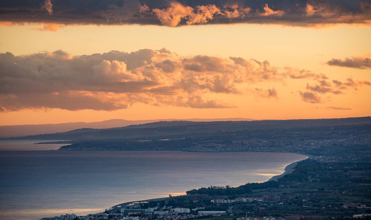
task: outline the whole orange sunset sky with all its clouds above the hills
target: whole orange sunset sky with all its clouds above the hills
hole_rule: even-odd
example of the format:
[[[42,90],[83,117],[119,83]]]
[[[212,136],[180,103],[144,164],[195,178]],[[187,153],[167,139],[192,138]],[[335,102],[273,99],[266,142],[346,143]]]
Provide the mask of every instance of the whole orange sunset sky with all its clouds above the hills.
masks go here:
[[[369,1],[0,8],[0,125],[371,115]]]

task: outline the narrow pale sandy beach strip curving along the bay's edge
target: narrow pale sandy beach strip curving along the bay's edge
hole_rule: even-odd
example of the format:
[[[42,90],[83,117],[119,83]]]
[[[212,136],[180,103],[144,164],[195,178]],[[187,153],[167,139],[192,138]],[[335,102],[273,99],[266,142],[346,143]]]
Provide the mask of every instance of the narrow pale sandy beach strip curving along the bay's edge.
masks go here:
[[[292,162],[291,164],[287,165],[285,167],[285,172],[283,172],[282,174],[280,175],[275,175],[273,177],[271,177],[269,180],[267,181],[271,181],[271,180],[274,180],[274,181],[277,181],[279,178],[283,177],[284,175],[286,174],[290,174],[292,173],[296,167],[296,164],[300,161],[303,161],[303,160],[307,160],[309,158],[313,158],[314,156],[311,155],[311,154],[305,154],[305,153],[301,153],[301,152],[282,152],[282,153],[292,153],[292,154],[299,154],[299,155],[303,155],[303,156],[306,156],[307,158],[305,159],[302,159],[302,160],[298,160],[298,161],[295,161],[295,162]],[[140,202],[148,202],[148,201],[162,201],[162,200],[165,200],[169,197],[163,197],[163,198],[152,198],[152,199],[147,199],[147,200],[139,200],[139,201],[131,201],[131,202],[125,202],[125,203],[120,203],[120,204],[117,204],[115,206],[112,206],[110,208],[110,210],[118,210],[118,209],[121,209],[121,208],[124,208],[124,207],[131,207],[131,206],[134,206],[134,204],[132,203],[140,203]],[[130,205],[132,204],[132,205]]]

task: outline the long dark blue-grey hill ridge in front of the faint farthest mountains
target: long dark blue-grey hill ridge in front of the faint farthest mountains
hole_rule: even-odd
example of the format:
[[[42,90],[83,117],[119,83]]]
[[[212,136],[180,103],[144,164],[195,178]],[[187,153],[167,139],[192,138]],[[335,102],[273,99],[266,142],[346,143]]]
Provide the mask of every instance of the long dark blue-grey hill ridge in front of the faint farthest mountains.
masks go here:
[[[169,138],[188,135],[211,135],[242,132],[243,134],[260,131],[269,133],[274,129],[333,129],[332,127],[365,125],[371,126],[371,117],[340,119],[297,119],[297,120],[262,120],[262,121],[160,121],[126,127],[92,129],[75,129],[55,134],[31,135],[8,139],[33,140],[104,140],[131,138]]]

